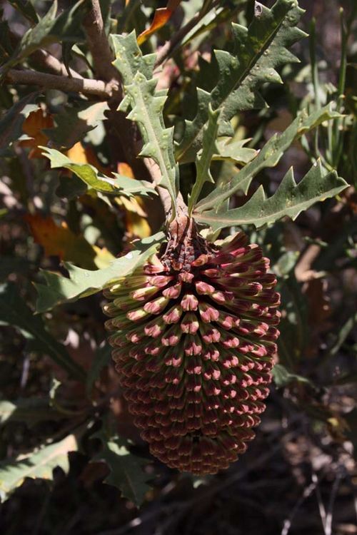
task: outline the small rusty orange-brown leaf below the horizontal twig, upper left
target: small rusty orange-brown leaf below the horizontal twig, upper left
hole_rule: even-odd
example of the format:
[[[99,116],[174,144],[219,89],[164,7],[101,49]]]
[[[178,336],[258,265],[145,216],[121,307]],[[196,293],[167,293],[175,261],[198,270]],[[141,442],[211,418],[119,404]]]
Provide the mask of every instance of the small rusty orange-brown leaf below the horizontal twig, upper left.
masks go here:
[[[31,139],[20,141],[22,147],[31,148],[29,158],[44,158],[39,145],[47,145],[49,138],[42,130],[53,128],[54,119],[50,113],[45,114],[42,108],[32,111],[22,125],[22,131]]]

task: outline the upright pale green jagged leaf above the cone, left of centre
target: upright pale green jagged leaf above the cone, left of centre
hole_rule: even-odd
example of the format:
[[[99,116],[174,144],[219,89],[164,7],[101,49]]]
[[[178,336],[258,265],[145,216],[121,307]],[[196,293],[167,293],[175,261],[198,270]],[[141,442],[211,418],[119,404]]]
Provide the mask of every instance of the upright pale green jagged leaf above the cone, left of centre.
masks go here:
[[[174,129],[165,127],[162,111],[166,91],[156,91],[155,56],[141,54],[134,31],[128,36],[112,35],[111,39],[116,56],[114,66],[124,83],[124,100],[119,109],[127,112],[131,108],[127,118],[138,123],[144,139],[139,156],[153,158],[159,165],[159,184],[169,191],[175,212],[178,168],[174,158]]]

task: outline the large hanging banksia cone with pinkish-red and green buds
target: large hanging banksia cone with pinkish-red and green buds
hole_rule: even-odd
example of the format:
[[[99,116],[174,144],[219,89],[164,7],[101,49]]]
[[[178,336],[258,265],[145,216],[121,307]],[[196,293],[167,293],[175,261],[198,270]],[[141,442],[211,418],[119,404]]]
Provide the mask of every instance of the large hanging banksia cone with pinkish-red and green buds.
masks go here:
[[[129,410],[169,467],[214,474],[254,437],[278,337],[268,267],[244,233],[208,243],[182,216],[164,250],[105,292]]]

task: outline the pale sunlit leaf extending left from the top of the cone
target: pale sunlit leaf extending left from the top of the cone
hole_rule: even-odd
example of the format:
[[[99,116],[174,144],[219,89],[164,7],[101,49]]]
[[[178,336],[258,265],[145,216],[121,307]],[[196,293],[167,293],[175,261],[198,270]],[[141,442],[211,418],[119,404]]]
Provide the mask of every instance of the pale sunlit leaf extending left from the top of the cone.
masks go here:
[[[158,234],[159,236],[159,234]],[[160,234],[161,236],[161,234]],[[151,237],[153,238],[153,237]],[[156,250],[159,240],[146,250],[134,250],[121,258],[117,258],[109,267],[101,270],[84,270],[70,263],[64,263],[69,278],[50,271],[43,271],[46,285],[35,284],[38,292],[36,312],[46,312],[56,305],[87,297],[108,286],[119,277],[126,277],[142,265]]]

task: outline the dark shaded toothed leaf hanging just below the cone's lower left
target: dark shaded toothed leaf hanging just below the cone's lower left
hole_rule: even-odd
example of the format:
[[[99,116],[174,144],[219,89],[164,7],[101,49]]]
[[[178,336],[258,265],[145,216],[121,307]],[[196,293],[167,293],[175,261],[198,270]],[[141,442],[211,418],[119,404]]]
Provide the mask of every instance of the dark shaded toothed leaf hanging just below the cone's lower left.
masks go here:
[[[148,474],[141,468],[147,463],[146,460],[131,454],[120,440],[106,439],[103,432],[97,433],[95,437],[101,439],[103,449],[93,461],[105,462],[110,469],[110,474],[104,482],[116,486],[124,498],[140,506],[146,492],[151,489],[146,483],[149,479]]]

